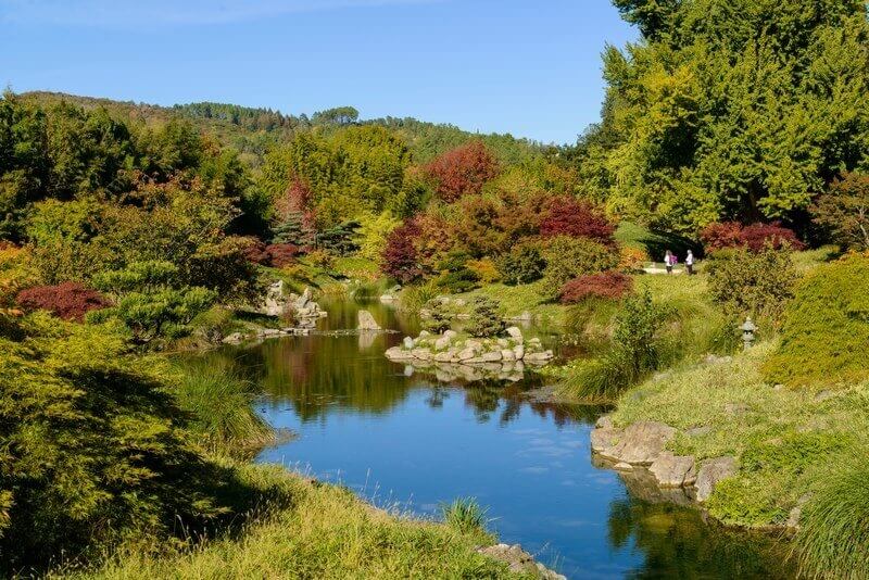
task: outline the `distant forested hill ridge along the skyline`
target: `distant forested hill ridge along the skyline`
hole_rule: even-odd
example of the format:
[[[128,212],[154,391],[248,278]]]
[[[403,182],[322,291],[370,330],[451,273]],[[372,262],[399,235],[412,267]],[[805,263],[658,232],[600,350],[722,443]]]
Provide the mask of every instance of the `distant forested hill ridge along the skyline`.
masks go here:
[[[280,111],[237,104],[198,102],[160,106],[133,101],[115,101],[63,92],[34,91],[21,99],[37,101],[45,106],[65,101],[86,110],[105,109],[110,115],[135,124],[163,124],[173,118],[186,118],[202,133],[213,136],[225,147],[242,154],[251,165],[260,165],[263,155],[277,143],[288,142],[299,133],[317,130],[331,133],[347,125],[379,125],[398,134],[411,148],[414,159],[425,163],[470,139],[481,139],[502,162],[515,164],[536,156],[546,146],[512,135],[466,131],[454,125],[437,124],[413,117],[360,119],[352,106],[341,106],[313,113],[288,115]]]

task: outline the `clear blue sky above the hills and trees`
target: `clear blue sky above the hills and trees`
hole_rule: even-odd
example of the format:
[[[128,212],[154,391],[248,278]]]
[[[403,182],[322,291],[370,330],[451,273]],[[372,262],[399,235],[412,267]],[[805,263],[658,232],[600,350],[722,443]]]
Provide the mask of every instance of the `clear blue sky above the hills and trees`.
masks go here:
[[[0,84],[571,143],[604,47],[637,37],[609,0],[0,0]]]

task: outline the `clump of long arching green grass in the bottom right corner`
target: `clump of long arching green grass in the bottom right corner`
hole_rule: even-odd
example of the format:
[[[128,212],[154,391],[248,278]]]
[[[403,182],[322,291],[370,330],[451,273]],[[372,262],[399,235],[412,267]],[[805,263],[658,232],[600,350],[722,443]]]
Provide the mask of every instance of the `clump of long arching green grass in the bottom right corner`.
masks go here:
[[[805,578],[869,578],[869,453],[836,457],[803,507],[796,554]]]

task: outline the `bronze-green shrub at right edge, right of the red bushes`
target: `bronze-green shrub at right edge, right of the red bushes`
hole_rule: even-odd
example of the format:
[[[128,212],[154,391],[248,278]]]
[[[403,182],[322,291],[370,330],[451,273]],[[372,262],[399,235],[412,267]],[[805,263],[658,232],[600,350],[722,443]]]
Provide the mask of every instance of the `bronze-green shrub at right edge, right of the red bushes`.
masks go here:
[[[846,173],[834,180],[811,215],[841,248],[869,250],[869,175]]]

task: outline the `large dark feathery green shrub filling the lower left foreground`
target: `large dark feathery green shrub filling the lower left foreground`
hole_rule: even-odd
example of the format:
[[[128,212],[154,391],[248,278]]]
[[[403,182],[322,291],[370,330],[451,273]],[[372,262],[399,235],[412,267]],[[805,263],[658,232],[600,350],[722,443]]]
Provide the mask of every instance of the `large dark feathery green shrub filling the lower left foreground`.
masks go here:
[[[0,325],[0,576],[226,512],[165,365],[128,354],[116,327]]]

